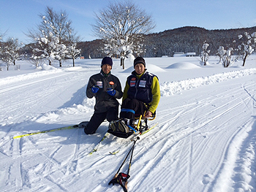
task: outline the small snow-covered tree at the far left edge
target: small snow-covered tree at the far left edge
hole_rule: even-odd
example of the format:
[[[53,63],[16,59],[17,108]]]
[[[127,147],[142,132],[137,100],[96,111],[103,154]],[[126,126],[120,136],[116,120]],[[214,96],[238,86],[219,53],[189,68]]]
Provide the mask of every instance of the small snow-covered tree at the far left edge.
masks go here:
[[[1,44],[1,60],[7,64],[7,70],[9,70],[10,65],[15,65],[17,59],[20,57],[19,50],[22,43],[18,39],[9,37],[7,42]]]

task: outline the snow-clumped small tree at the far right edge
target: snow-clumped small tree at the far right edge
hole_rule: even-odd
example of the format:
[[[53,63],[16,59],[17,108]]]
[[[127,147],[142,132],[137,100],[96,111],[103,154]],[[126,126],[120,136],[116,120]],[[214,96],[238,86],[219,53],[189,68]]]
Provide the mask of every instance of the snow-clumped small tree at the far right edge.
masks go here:
[[[246,58],[252,54],[255,50],[256,44],[256,32],[249,34],[247,32],[243,35],[238,35],[238,41],[240,44],[238,45],[238,54],[243,59],[243,66],[245,65]]]

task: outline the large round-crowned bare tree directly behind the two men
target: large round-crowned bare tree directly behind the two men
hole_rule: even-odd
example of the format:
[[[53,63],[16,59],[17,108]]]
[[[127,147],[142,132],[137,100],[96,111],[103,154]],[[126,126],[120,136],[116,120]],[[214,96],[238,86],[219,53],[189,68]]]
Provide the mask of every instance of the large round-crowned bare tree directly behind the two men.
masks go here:
[[[96,24],[93,25],[94,34],[105,43],[105,53],[110,56],[118,55],[123,69],[124,58],[129,50],[134,50],[142,41],[143,34],[147,34],[152,28],[154,23],[151,16],[129,1],[109,4],[96,14]]]

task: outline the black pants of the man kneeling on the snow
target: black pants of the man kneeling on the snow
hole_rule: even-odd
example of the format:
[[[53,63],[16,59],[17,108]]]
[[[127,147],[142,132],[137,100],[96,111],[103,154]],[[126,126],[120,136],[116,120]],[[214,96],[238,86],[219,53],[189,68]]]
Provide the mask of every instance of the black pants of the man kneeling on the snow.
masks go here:
[[[108,122],[111,120],[118,120],[118,110],[116,107],[111,107],[108,112],[94,112],[91,120],[87,124],[86,128],[84,128],[84,132],[86,134],[94,134],[105,119],[107,119]]]

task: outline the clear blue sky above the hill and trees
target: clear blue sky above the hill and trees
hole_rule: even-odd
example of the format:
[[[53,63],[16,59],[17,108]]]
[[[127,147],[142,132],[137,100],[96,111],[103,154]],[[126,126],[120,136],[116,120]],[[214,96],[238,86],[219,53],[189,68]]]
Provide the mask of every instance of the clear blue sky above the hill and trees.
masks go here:
[[[116,0],[124,1],[124,0]],[[65,10],[72,20],[72,27],[83,41],[97,39],[91,32],[94,12],[110,4],[108,0],[1,0],[0,33],[7,31],[4,39],[15,37],[25,44],[29,39],[24,33],[40,23],[39,14],[46,7],[56,12]],[[113,1],[112,1],[113,2]],[[183,26],[206,29],[228,29],[256,26],[255,0],[139,0],[132,1],[138,9],[145,10],[156,23],[152,32]]]

